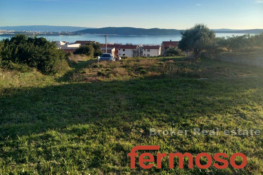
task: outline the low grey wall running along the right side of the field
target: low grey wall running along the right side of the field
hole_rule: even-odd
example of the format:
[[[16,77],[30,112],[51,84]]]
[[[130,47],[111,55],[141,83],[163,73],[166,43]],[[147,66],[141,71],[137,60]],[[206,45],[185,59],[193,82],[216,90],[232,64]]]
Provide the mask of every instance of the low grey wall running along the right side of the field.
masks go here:
[[[207,59],[219,61],[219,62],[229,62],[233,64],[241,64],[247,66],[263,67],[263,58],[256,58],[255,60],[245,60],[240,58],[226,57],[221,55],[212,55],[207,53],[201,53],[202,57]]]

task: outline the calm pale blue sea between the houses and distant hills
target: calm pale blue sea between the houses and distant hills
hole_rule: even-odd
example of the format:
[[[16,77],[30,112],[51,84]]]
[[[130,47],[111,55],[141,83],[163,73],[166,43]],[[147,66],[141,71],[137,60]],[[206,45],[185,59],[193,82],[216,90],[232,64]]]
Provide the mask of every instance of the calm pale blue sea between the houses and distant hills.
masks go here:
[[[216,35],[221,36],[231,36],[231,35],[244,35],[236,33],[217,33]],[[10,36],[1,36],[0,40],[9,38]],[[76,36],[43,36],[49,41],[67,41],[75,42],[77,40],[85,41],[98,41],[100,43],[105,43],[105,37],[103,35],[76,35]],[[107,43],[132,43],[132,44],[155,44],[159,45],[162,41],[180,41],[181,35],[169,35],[169,36],[147,36],[147,35],[109,35],[107,38]]]

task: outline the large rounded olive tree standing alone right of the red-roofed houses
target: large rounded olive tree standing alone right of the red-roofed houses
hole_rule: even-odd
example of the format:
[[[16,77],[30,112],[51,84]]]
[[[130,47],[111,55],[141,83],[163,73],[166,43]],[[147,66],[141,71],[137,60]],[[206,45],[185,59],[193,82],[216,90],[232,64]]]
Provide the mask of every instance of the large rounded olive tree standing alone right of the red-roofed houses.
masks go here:
[[[202,50],[213,50],[216,46],[216,36],[205,24],[195,24],[194,27],[181,32],[182,39],[178,48],[187,51],[191,50],[198,59]]]

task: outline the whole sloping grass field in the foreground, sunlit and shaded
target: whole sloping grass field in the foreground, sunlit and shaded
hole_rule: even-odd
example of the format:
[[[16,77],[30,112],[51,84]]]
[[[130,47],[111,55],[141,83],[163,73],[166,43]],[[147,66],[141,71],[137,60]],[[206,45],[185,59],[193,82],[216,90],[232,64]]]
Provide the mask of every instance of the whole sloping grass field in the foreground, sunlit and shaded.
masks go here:
[[[65,75],[0,70],[0,174],[262,174],[262,69],[184,58],[79,61]],[[207,79],[199,79],[207,78]],[[149,128],[219,128],[219,136],[149,136]],[[248,157],[243,169],[130,169],[127,153]],[[156,155],[156,151],[150,151]],[[156,156],[155,156],[156,157]],[[156,160],[156,159],[155,159]],[[229,160],[227,158],[227,160]],[[236,164],[241,160],[236,159]],[[205,159],[202,159],[205,162]],[[214,162],[214,160],[213,160]]]

